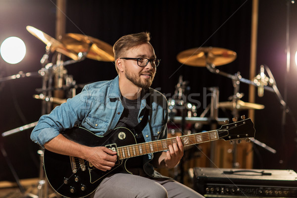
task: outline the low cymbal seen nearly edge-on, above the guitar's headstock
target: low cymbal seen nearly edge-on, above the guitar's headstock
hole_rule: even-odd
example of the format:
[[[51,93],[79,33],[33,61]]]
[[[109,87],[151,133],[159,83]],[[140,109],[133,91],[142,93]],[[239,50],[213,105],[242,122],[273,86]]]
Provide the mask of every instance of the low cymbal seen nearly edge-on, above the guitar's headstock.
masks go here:
[[[219,108],[228,108],[228,109],[263,109],[265,106],[262,104],[244,102],[243,100],[234,101],[226,101],[226,102],[219,102]]]

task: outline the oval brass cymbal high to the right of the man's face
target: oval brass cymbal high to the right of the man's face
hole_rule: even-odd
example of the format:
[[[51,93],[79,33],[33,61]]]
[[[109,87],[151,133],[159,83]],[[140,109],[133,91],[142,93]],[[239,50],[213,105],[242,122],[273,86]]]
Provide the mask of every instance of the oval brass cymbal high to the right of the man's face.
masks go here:
[[[215,66],[225,65],[235,60],[236,57],[236,52],[229,49],[200,47],[182,51],[177,54],[176,58],[182,64],[204,67],[206,63],[212,63]]]

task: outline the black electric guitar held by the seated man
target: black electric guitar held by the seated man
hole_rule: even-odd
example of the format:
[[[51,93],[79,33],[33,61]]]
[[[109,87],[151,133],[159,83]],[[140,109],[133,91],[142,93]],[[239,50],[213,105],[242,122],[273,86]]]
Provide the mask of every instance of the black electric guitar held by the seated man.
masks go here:
[[[91,131],[74,127],[62,132],[67,139],[89,147],[105,146],[117,152],[117,162],[109,171],[95,168],[87,160],[61,155],[49,150],[44,152],[44,169],[51,187],[67,198],[82,198],[92,194],[100,182],[111,173],[126,171],[125,164],[131,157],[167,150],[176,143],[176,138],[168,138],[137,144],[133,133],[123,127],[114,129],[106,137],[96,136]],[[223,125],[220,129],[181,136],[184,146],[223,139],[241,140],[253,138],[255,129],[250,118]]]

